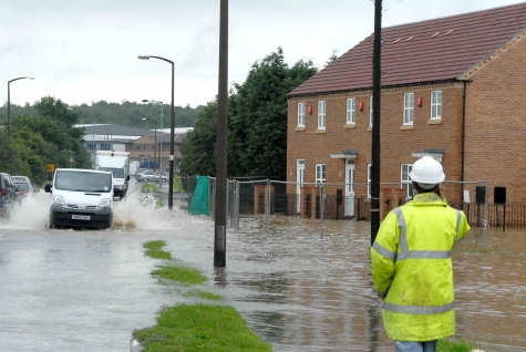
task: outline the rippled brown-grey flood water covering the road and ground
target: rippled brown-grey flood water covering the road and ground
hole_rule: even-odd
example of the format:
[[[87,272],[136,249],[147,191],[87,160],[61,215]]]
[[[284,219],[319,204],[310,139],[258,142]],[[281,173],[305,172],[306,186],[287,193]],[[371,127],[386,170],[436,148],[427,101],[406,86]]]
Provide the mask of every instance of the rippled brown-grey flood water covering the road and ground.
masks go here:
[[[134,188],[134,187],[132,187]],[[47,228],[40,193],[0,222],[0,351],[128,351],[134,329],[162,306],[192,302],[149,276],[162,261],[142,245],[198,268],[274,351],[393,351],[370,275],[370,224],[276,217],[227,230],[227,266],[214,268],[214,221],[142,205],[133,191],[109,230]],[[454,253],[457,338],[485,351],[526,345],[526,234],[471,232]]]

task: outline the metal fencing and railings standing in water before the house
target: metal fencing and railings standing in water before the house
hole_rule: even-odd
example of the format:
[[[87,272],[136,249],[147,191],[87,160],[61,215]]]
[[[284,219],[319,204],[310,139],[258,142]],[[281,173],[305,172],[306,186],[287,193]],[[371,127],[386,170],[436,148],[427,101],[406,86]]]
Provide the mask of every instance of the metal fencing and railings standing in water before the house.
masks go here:
[[[181,177],[188,194],[186,208],[194,193],[197,177]],[[215,183],[209,177],[209,214],[215,214]],[[408,189],[400,183],[381,184],[383,215],[410,200]],[[487,182],[445,182],[445,197],[450,206],[465,213],[473,230],[525,230],[526,203],[488,204]],[[483,201],[478,199],[484,190]],[[322,236],[324,220],[370,220],[368,184],[297,184],[270,179],[241,180],[231,178],[227,187],[228,226],[239,229],[241,218],[259,218],[267,226],[270,217],[297,216],[319,219]],[[463,195],[458,199],[458,195]],[[477,195],[477,199],[471,199]]]

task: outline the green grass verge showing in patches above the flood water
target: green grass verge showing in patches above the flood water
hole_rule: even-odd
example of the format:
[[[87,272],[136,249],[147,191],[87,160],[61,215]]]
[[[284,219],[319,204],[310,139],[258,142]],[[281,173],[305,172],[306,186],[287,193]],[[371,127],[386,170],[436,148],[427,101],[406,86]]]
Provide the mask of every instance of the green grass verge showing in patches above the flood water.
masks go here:
[[[153,258],[166,259],[163,240],[149,241],[143,245],[146,255]],[[172,256],[169,255],[169,258]],[[200,284],[207,278],[197,269],[179,265],[158,266],[152,275],[167,280]],[[186,297],[197,297],[207,300],[221,300],[220,296],[193,289],[184,293]],[[135,330],[133,338],[137,340],[143,352],[165,351],[207,351],[230,352],[272,351],[271,344],[256,335],[247,321],[231,307],[216,304],[177,304],[163,308],[158,312],[157,324],[151,328]]]

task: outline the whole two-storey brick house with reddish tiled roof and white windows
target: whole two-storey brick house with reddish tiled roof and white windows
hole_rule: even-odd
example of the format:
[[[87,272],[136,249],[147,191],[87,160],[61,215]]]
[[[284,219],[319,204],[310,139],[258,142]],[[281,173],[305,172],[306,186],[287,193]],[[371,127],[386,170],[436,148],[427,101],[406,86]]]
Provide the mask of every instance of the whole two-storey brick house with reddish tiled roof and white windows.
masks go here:
[[[431,155],[446,180],[487,180],[489,203],[494,187],[526,200],[525,38],[526,3],[382,29],[382,189],[411,197],[412,164]],[[288,94],[287,182],[370,196],[373,39]],[[466,189],[474,201],[466,184],[446,184],[446,197]]]

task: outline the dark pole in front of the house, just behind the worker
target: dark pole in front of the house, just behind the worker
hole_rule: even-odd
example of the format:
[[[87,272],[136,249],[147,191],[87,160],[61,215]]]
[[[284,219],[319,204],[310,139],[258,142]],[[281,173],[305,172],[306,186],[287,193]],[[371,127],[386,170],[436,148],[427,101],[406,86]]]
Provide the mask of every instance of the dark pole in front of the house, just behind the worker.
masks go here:
[[[374,1],[372,68],[371,246],[380,228],[380,113],[381,113],[382,0]]]

